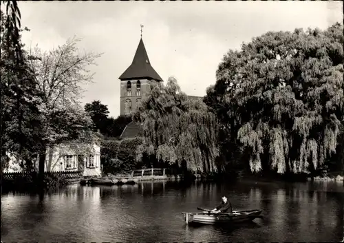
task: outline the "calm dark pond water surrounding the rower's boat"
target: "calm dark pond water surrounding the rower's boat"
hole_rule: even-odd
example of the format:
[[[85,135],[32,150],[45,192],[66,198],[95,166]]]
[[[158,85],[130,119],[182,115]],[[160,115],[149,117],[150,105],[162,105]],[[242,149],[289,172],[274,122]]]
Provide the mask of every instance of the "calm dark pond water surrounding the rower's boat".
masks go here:
[[[182,211],[263,209],[239,227],[187,226]],[[38,196],[1,198],[3,242],[336,242],[343,239],[343,183],[193,182],[72,185]]]

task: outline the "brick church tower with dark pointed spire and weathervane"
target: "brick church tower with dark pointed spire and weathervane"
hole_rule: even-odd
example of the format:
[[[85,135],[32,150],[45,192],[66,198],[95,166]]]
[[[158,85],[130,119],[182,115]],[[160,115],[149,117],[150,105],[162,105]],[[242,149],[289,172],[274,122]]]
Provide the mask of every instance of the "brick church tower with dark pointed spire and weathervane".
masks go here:
[[[120,115],[130,114],[136,109],[142,98],[147,96],[152,81],[162,82],[162,78],[151,66],[142,35],[133,62],[119,79]]]

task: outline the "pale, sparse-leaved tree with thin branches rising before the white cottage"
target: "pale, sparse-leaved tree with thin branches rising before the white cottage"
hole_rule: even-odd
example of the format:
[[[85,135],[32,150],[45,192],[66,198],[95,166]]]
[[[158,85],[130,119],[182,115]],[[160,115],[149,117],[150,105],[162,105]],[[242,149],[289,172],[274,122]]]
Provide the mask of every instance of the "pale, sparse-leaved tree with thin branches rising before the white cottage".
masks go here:
[[[92,82],[94,74],[89,73],[88,67],[96,64],[94,60],[100,54],[80,54],[76,47],[78,41],[80,39],[69,39],[65,45],[49,52],[42,52],[38,47],[30,50],[30,69],[41,93],[41,126],[36,136],[40,171],[44,169],[47,147],[77,138],[84,145],[91,145],[94,140],[89,131],[92,120],[80,103],[83,92],[80,84]],[[86,129],[76,129],[76,125]]]

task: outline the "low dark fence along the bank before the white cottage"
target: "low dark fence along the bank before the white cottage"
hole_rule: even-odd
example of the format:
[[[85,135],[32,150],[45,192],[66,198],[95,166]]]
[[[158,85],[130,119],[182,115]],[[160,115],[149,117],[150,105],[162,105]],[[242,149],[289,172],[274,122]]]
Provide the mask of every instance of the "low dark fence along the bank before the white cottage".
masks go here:
[[[47,171],[44,172],[44,176],[50,177],[57,177],[57,178],[65,178],[65,179],[75,179],[80,178],[82,172],[81,171]],[[10,172],[10,173],[3,173],[2,179],[3,180],[16,180],[19,178],[26,178],[32,180],[37,176],[37,172]]]

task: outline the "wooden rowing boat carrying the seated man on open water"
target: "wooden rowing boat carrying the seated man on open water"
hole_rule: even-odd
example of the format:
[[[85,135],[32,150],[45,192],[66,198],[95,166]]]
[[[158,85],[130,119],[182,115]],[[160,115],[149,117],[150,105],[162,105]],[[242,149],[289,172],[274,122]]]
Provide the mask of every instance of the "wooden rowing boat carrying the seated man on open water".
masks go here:
[[[233,211],[233,213],[184,213],[186,224],[236,224],[261,218],[261,209]]]

